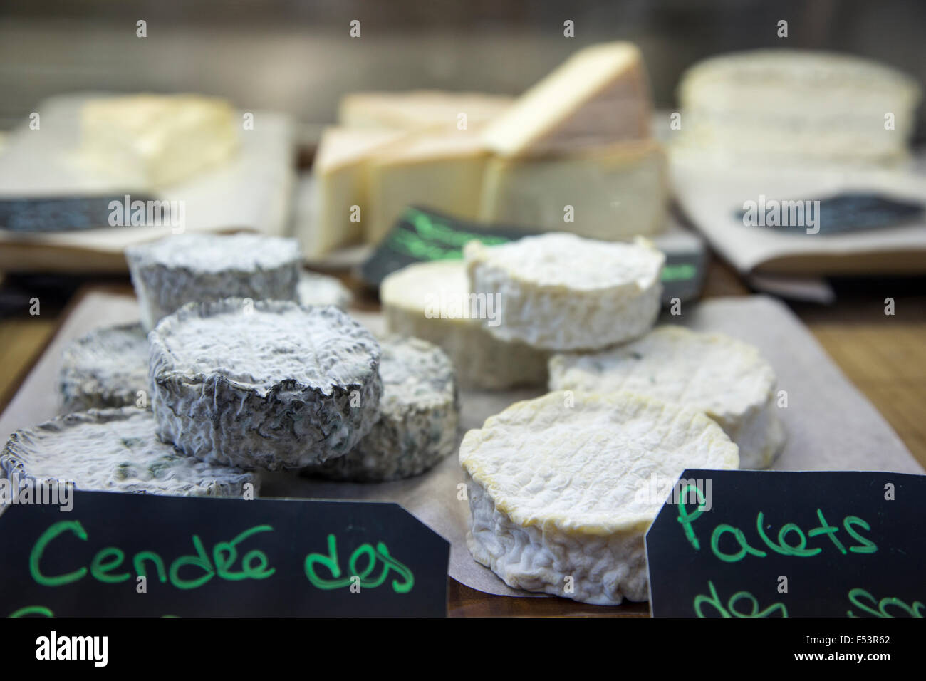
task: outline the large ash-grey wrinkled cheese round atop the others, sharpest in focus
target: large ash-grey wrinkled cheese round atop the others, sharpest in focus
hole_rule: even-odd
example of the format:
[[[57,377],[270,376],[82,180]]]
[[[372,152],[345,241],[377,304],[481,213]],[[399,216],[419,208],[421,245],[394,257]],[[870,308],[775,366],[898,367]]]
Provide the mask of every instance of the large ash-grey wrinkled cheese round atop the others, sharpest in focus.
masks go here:
[[[230,378],[223,367],[184,367],[189,358],[179,360],[169,348],[171,334],[182,333],[177,330],[188,320],[206,321],[219,339],[223,316],[233,314],[247,314],[244,301],[190,303],[150,334],[157,434],[197,459],[270,471],[306,468],[356,447],[379,418],[380,346],[373,336],[339,309],[267,300],[254,302],[249,313],[256,329],[261,315],[294,315],[306,344],[285,349],[318,364],[344,354],[344,375],[314,375],[304,364],[299,375],[248,381]],[[274,345],[279,339],[265,340],[269,345],[252,347],[252,355],[280,349]],[[235,360],[246,366],[249,357]]]

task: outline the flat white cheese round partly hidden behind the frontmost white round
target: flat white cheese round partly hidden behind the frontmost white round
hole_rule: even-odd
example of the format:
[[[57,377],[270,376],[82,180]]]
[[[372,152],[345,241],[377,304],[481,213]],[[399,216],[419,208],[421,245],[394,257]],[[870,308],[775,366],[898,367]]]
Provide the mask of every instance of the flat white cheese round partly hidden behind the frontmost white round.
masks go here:
[[[743,468],[768,468],[785,435],[775,372],[756,347],[724,334],[660,326],[643,338],[550,359],[550,390],[629,391],[702,410],[740,448]]]

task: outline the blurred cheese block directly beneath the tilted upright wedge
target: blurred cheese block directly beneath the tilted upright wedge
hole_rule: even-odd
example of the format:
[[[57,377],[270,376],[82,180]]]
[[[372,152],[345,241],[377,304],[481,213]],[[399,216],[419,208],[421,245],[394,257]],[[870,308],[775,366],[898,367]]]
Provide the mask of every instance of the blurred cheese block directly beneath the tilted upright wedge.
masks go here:
[[[655,140],[551,158],[495,157],[486,165],[480,220],[605,241],[655,234],[666,221],[666,166]]]

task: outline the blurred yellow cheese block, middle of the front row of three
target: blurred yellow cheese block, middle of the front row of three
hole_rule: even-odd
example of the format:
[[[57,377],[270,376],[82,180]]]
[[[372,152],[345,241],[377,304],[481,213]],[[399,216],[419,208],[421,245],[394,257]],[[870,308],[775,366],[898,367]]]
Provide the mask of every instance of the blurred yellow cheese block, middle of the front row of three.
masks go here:
[[[382,147],[369,161],[366,241],[377,244],[408,206],[476,220],[488,153],[470,131],[424,132]]]

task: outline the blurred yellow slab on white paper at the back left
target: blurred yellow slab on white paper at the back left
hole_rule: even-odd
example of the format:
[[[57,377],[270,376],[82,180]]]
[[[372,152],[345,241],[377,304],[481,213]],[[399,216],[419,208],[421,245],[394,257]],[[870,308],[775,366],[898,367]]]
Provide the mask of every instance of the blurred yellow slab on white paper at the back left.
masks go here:
[[[168,186],[230,160],[239,125],[232,105],[216,97],[92,99],[81,109],[81,158],[124,185]]]

